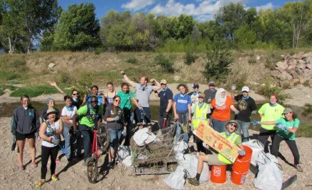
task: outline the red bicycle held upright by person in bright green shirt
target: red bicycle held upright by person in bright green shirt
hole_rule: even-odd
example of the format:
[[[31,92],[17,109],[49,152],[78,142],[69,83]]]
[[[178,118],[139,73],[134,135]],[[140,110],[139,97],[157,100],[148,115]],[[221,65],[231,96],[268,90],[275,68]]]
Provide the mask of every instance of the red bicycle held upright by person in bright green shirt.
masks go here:
[[[98,178],[98,158],[100,155],[98,153],[98,141],[101,144],[101,148],[105,151],[107,144],[107,132],[105,124],[101,124],[98,131],[93,131],[93,142],[92,142],[92,155],[87,162],[87,177],[90,183],[96,183]]]

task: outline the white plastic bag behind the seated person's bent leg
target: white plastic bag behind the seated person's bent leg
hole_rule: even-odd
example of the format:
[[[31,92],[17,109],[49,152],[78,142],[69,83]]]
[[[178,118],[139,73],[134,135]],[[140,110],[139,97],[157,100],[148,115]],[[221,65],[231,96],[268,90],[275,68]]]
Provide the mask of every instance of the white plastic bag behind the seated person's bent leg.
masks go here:
[[[184,167],[189,172],[189,178],[195,178],[197,173],[197,163],[198,159],[195,154],[185,154],[183,155],[184,160],[177,160],[177,164]],[[209,167],[204,164],[202,168],[202,173],[200,174],[200,184],[207,182],[209,180]]]

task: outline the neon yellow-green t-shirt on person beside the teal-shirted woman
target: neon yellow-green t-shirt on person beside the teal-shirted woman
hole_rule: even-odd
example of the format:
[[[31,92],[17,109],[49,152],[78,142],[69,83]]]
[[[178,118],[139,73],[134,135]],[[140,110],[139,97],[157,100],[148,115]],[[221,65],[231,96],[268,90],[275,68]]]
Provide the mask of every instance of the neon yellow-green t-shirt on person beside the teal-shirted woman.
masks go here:
[[[269,103],[263,104],[258,113],[262,114],[261,122],[276,121],[283,115],[284,107],[277,104],[276,106],[270,106]],[[274,124],[261,124],[261,127],[266,130],[276,130]]]

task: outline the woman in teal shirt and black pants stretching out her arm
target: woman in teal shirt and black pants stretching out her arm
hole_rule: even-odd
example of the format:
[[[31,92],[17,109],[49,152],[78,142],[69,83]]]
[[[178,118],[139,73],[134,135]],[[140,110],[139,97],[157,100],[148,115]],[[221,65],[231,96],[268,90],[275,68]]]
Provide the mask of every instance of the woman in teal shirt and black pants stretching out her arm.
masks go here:
[[[257,122],[254,120],[252,124],[254,126],[258,124],[272,124],[277,125],[277,135],[275,135],[274,140],[272,142],[272,155],[279,154],[279,144],[284,140],[288,145],[289,149],[291,149],[291,153],[293,153],[293,158],[295,162],[295,168],[297,171],[302,172],[302,167],[300,167],[299,160],[300,155],[297,148],[297,144],[295,142],[295,133],[297,133],[299,128],[300,120],[297,119],[297,115],[293,112],[291,108],[285,108],[283,111],[284,117],[279,118],[275,121],[267,121],[267,122]]]

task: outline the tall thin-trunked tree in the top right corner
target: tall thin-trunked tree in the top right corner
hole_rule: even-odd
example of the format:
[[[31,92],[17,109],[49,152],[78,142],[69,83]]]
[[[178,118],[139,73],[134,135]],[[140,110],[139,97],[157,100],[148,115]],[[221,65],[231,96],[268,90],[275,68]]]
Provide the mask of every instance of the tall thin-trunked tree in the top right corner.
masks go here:
[[[312,18],[312,0],[288,2],[284,5],[285,10],[291,17],[293,25],[293,48],[299,46],[302,32],[307,28]]]

